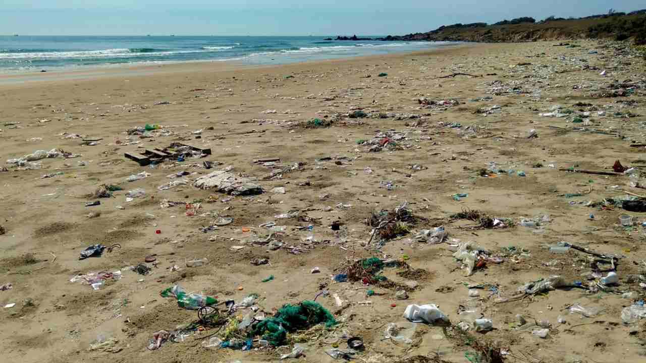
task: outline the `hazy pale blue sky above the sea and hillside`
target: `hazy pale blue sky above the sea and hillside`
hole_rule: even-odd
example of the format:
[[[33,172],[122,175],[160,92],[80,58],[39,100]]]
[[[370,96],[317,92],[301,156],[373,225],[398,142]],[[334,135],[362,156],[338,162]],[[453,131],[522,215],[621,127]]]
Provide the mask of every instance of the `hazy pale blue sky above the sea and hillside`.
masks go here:
[[[0,34],[388,35],[532,16],[630,12],[644,0],[0,0]],[[612,5],[610,5],[612,4]]]

